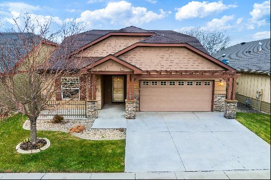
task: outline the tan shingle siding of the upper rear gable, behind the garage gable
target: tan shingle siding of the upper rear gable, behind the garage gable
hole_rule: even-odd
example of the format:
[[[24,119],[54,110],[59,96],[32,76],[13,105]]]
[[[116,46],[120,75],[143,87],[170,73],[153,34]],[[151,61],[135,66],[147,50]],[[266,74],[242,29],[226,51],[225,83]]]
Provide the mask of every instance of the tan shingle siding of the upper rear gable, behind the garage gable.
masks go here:
[[[87,48],[76,56],[83,57],[105,57],[114,54],[136,42],[146,39],[148,36],[111,36],[101,42]]]

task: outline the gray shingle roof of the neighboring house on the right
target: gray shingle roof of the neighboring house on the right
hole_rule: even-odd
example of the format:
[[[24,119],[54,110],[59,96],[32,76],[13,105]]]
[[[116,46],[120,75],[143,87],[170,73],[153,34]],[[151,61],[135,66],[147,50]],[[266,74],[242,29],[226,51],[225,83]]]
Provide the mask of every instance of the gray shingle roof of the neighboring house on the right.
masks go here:
[[[222,57],[223,54],[226,56]],[[270,38],[236,44],[212,56],[221,61],[229,60],[229,65],[237,71],[270,72]]]

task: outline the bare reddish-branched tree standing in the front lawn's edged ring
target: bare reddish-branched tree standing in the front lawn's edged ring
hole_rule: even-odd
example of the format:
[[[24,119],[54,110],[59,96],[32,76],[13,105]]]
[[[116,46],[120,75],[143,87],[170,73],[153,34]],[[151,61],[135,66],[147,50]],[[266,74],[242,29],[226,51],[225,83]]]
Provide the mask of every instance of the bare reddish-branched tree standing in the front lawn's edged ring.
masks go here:
[[[79,32],[84,26],[69,21],[56,30],[51,19],[44,19],[41,24],[28,13],[13,21],[15,29],[0,32],[0,108],[29,118],[31,142],[35,144],[36,120],[61,90],[56,87],[61,86],[56,85],[56,80],[73,74],[80,76],[81,58],[67,54],[78,47],[77,40],[82,38]],[[54,43],[63,39],[67,43]]]

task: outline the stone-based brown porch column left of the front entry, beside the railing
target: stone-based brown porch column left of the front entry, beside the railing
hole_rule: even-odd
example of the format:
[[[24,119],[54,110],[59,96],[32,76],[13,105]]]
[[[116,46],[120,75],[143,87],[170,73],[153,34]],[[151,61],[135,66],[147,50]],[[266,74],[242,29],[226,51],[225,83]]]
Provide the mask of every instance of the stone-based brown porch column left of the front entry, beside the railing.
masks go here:
[[[96,100],[96,76],[92,74],[88,78],[88,100],[86,104],[87,118],[98,118],[98,103]],[[92,96],[93,95],[93,96]]]

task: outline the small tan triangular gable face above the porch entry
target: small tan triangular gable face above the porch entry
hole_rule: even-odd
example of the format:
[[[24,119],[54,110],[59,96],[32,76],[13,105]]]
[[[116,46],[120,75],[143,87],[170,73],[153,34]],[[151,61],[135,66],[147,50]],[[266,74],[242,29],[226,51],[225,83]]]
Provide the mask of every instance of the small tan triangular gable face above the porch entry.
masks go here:
[[[92,68],[91,71],[133,71],[133,70],[114,60],[107,60],[102,64]]]

